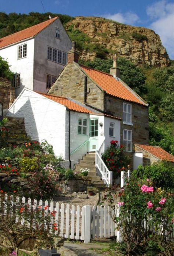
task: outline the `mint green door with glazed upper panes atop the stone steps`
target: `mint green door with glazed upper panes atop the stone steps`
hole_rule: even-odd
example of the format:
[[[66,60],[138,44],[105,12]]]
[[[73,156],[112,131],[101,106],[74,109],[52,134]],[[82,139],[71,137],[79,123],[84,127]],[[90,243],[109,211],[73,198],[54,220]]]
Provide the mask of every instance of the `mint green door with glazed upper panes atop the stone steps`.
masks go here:
[[[89,151],[96,151],[98,148],[98,118],[90,119]]]

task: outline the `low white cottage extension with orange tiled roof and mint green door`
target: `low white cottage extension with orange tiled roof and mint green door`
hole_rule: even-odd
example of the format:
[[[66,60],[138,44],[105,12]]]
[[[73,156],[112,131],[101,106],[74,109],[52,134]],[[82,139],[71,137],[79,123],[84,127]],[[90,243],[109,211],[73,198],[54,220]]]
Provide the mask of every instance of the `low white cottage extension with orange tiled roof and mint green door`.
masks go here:
[[[120,118],[96,111],[70,98],[23,89],[7,116],[25,118],[32,140],[46,139],[55,155],[73,165],[89,151],[96,151],[105,139],[120,144]]]

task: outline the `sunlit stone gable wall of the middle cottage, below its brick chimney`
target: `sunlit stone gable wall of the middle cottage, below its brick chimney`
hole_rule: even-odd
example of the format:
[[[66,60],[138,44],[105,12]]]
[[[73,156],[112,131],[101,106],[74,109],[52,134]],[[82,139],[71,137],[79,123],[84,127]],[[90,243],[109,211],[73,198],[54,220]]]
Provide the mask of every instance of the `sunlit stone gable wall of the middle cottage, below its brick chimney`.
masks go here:
[[[78,64],[68,64],[48,93],[62,97],[71,97],[84,103],[84,73]],[[103,109],[104,94],[90,79],[87,79],[87,103]]]

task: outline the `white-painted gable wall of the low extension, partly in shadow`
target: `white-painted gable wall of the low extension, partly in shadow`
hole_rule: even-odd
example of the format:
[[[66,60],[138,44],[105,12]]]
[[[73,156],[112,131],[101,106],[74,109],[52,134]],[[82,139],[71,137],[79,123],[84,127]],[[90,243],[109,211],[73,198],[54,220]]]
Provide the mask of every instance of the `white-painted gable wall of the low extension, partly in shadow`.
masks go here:
[[[32,140],[47,140],[55,155],[68,160],[65,155],[66,108],[63,105],[25,89],[11,105],[7,116],[25,118],[26,133]]]

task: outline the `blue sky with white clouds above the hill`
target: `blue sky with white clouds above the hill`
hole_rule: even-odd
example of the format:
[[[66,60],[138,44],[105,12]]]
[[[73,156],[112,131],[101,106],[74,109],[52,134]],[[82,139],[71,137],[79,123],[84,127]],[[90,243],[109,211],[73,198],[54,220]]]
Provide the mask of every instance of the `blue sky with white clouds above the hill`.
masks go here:
[[[54,12],[70,16],[97,16],[155,30],[174,58],[173,0],[0,0],[6,13]]]

